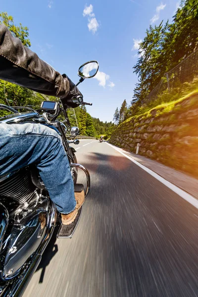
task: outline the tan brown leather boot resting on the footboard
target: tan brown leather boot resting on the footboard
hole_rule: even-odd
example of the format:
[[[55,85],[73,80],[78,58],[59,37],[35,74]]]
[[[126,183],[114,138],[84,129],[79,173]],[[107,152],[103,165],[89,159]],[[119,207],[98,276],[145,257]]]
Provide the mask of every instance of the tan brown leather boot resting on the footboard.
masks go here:
[[[81,206],[83,205],[83,203],[85,201],[84,191],[82,191],[81,193],[74,193],[74,195],[76,198],[76,207],[72,212],[70,212],[68,214],[61,213],[61,219],[62,219],[63,225],[69,225],[75,220],[78,210],[81,208]]]

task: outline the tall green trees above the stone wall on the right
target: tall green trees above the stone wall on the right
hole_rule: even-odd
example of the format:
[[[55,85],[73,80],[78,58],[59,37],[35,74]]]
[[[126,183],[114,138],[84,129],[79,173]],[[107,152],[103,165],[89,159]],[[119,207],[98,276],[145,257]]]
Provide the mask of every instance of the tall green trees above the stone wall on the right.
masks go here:
[[[145,39],[140,44],[140,57],[134,66],[139,82],[134,90],[131,112],[134,114],[140,108],[142,100],[160,80],[165,80],[165,72],[178,65],[196,49],[198,49],[198,0],[182,0],[173,22],[171,24],[166,22],[164,25],[161,22],[159,26],[154,27],[150,25]]]

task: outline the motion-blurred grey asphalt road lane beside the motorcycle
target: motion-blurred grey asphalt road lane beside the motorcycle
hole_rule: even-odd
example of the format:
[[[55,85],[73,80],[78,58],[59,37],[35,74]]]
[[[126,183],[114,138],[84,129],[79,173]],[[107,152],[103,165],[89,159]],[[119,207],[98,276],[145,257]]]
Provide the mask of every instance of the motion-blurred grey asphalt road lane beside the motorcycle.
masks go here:
[[[90,194],[73,238],[53,237],[24,296],[198,296],[198,209],[106,143],[75,148]]]

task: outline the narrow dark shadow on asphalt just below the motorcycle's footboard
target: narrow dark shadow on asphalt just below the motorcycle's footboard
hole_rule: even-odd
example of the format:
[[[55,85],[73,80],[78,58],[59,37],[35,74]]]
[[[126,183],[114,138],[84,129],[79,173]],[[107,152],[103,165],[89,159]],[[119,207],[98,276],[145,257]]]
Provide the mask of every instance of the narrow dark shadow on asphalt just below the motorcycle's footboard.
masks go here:
[[[55,244],[58,228],[59,228],[59,226],[56,226],[56,228],[52,234],[51,240],[42,255],[41,262],[36,270],[36,271],[38,271],[38,270],[42,269],[39,283],[43,283],[44,275],[46,272],[46,267],[49,265],[50,260],[53,258],[53,256],[58,251],[58,246]]]

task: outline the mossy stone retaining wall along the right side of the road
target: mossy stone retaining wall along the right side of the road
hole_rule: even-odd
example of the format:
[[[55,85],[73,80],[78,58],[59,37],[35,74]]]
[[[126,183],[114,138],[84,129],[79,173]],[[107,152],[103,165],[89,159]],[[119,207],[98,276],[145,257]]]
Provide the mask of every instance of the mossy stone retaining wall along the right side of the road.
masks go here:
[[[140,154],[198,177],[198,95],[124,121],[109,142],[133,152],[140,143]]]

